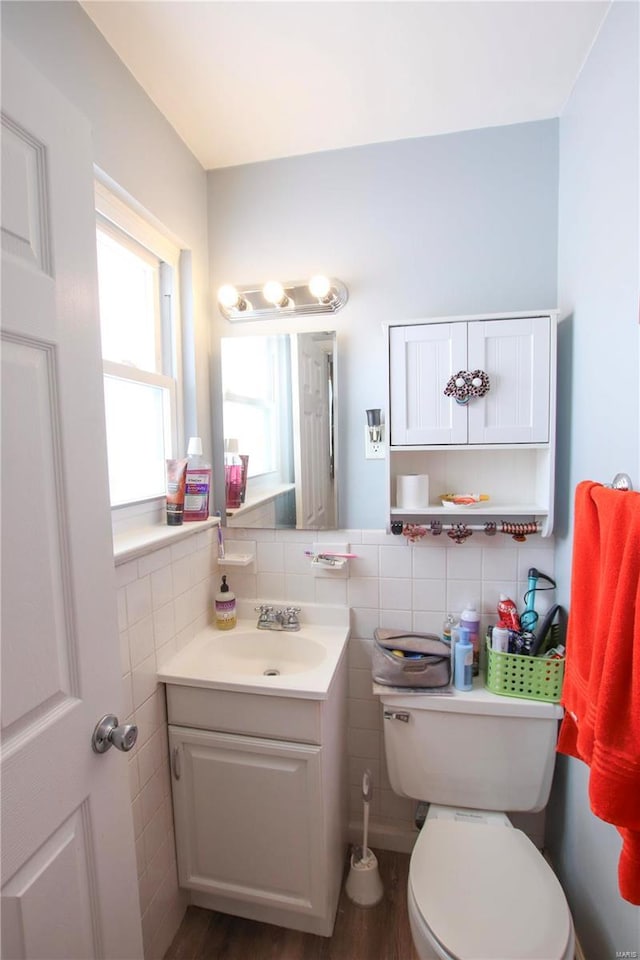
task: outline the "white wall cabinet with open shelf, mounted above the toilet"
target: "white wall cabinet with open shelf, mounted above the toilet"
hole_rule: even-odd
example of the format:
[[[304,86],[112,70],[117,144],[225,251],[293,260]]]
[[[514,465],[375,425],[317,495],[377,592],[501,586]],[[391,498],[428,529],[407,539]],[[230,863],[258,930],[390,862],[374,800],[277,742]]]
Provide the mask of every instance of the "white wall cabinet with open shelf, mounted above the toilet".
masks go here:
[[[553,522],[555,311],[442,318],[389,327],[389,503],[402,523]],[[459,371],[482,371],[483,396],[445,395]],[[429,503],[398,503],[396,478],[429,477]],[[444,506],[444,493],[486,502]],[[473,518],[473,521],[471,520]],[[394,529],[394,523],[396,529]]]

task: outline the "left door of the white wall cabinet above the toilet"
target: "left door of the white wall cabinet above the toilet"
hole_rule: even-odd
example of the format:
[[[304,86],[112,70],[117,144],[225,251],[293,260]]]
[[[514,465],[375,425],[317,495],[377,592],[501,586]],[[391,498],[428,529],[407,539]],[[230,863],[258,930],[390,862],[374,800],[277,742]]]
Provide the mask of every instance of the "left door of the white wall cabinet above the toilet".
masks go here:
[[[466,443],[466,410],[444,395],[451,375],[466,367],[466,324],[392,327],[389,334],[391,443]]]

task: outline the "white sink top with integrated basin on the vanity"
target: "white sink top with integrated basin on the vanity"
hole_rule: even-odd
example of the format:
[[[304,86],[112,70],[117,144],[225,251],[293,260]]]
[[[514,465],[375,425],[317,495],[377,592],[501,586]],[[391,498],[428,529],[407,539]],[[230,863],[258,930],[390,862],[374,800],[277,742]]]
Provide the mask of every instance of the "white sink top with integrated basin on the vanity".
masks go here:
[[[324,699],[349,636],[347,623],[299,631],[205,627],[158,671],[162,683]]]

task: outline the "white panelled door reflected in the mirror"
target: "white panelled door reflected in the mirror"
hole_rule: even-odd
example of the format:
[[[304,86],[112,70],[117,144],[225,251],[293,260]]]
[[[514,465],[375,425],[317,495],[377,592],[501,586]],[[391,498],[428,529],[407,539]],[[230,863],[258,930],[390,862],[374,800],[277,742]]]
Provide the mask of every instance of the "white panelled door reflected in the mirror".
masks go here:
[[[322,343],[299,333],[292,349],[296,526],[335,527],[329,447],[329,371]]]

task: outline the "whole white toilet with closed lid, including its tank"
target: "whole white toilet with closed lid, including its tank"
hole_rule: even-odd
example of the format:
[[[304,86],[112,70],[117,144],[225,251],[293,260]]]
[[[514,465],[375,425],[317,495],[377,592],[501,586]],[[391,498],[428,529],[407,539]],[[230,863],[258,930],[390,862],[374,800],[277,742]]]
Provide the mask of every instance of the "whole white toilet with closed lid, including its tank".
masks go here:
[[[409,866],[421,960],[573,960],[562,887],[502,812],[545,806],[562,709],[485,689],[376,690],[391,786],[431,803]]]

